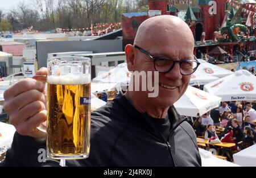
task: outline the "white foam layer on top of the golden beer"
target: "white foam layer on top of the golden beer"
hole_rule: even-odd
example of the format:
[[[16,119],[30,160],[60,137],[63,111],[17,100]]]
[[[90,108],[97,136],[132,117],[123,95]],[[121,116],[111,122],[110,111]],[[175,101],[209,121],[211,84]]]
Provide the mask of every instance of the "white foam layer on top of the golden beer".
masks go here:
[[[90,74],[75,75],[72,73],[64,76],[47,76],[47,82],[55,85],[82,85],[90,83]]]

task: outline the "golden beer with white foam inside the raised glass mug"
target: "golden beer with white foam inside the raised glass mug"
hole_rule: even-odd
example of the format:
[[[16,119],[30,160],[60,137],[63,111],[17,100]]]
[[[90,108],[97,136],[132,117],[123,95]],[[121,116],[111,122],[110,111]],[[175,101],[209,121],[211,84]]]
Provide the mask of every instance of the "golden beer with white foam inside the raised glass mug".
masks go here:
[[[90,75],[48,76],[47,154],[84,159],[90,149]]]

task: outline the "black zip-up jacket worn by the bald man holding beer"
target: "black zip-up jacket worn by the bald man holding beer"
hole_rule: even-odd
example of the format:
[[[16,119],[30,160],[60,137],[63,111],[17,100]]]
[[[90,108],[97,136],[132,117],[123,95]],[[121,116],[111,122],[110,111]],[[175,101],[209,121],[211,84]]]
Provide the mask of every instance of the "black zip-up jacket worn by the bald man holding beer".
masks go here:
[[[168,111],[172,122],[169,142],[164,141],[147,113],[140,113],[119,94],[92,113],[90,155],[67,160],[67,166],[200,166],[195,131],[177,114]],[[29,136],[14,136],[3,166],[55,165],[56,160],[38,162],[38,149],[45,148]]]

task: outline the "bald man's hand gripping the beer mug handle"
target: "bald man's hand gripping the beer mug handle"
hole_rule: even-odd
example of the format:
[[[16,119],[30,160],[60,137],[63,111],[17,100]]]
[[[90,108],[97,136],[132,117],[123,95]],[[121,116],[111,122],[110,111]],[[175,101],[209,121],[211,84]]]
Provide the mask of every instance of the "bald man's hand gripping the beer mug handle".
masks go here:
[[[47,69],[41,68],[37,75],[47,75]],[[45,138],[46,133],[36,127],[46,121],[46,78],[25,78],[20,80],[3,94],[3,109],[9,114],[10,122],[20,135]]]

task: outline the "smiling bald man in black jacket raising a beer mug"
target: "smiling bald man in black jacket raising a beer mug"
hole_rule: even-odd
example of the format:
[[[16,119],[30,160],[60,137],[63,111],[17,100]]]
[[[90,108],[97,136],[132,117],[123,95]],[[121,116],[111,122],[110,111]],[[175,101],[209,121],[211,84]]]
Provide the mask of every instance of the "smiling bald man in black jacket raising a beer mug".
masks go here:
[[[126,62],[131,72],[152,72],[146,76],[150,80],[157,76],[158,95],[129,88],[94,111],[89,158],[68,160],[67,166],[200,166],[195,131],[173,106],[199,65],[193,48],[193,34],[183,20],[171,15],[145,20],[134,45],[125,48]],[[45,84],[25,79],[6,91],[5,109],[17,132],[2,165],[59,165],[56,160],[38,162],[38,150],[46,147],[46,135],[36,129],[46,121]],[[131,80],[130,85],[137,83]]]

